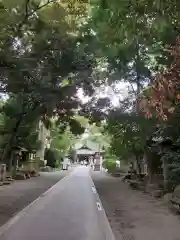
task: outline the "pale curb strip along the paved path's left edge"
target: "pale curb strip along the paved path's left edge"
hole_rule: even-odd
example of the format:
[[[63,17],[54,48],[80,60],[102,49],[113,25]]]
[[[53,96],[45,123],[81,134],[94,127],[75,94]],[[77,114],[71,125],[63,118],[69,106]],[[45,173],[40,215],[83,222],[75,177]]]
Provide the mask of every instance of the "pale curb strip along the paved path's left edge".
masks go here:
[[[67,178],[69,178],[69,176],[73,173],[74,169],[72,169],[67,176],[63,177],[61,180],[59,180],[57,183],[55,183],[52,187],[50,187],[47,191],[45,191],[44,193],[42,193],[38,198],[36,198],[33,202],[31,202],[29,205],[27,205],[25,208],[23,208],[22,210],[20,210],[19,212],[17,212],[10,220],[8,220],[4,225],[2,225],[0,227],[0,237],[2,237],[7,230],[13,226],[17,221],[19,221],[22,217],[24,217],[27,214],[27,211],[33,207],[37,202],[39,202],[42,198],[44,198],[45,196],[49,195],[50,192],[52,192],[52,190],[54,190],[54,188],[57,187],[57,185],[59,184],[59,182],[65,181]]]

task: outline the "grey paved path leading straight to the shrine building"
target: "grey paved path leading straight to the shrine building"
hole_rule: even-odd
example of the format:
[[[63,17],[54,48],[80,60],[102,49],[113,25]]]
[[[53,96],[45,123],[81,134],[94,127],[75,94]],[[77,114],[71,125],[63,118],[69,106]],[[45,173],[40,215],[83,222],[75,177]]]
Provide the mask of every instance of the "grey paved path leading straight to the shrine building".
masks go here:
[[[86,167],[77,167],[4,228],[1,240],[114,240]]]

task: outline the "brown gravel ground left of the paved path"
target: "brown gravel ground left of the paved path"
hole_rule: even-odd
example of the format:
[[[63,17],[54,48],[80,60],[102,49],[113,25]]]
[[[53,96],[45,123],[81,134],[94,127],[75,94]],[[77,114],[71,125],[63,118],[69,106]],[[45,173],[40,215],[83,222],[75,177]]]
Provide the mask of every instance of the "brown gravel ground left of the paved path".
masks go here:
[[[67,172],[41,173],[28,180],[0,186],[0,226],[61,180]]]

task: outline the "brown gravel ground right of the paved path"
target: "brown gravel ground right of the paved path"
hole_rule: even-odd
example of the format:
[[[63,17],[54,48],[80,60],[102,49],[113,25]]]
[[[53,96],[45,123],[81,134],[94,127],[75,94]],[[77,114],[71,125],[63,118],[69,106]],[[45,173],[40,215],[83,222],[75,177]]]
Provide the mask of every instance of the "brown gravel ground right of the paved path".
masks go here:
[[[180,217],[119,178],[92,173],[117,240],[180,240]]]

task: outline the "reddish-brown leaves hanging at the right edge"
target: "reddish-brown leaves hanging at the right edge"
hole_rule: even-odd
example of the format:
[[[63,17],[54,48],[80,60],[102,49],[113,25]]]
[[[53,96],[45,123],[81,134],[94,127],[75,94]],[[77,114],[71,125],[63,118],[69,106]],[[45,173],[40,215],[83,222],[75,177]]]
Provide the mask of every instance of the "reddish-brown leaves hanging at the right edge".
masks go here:
[[[167,49],[174,61],[168,69],[155,76],[153,84],[140,95],[138,103],[140,109],[147,117],[153,114],[160,120],[172,118],[179,107],[179,58],[180,40],[174,47]]]

